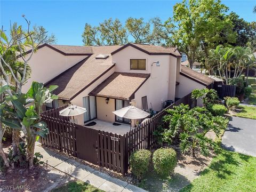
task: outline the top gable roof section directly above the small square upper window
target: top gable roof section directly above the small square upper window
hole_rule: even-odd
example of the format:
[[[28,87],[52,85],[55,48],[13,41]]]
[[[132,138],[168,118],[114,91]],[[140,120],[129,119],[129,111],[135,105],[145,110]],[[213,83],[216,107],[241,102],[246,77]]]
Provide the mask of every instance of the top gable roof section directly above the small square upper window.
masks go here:
[[[125,49],[125,47],[127,47],[127,46],[132,46],[135,49],[138,49],[138,50],[145,52],[147,54],[150,54],[150,55],[164,54],[164,55],[173,55],[174,57],[181,57],[180,52],[175,47],[166,48],[166,47],[157,46],[157,45],[138,44],[138,43],[128,43],[126,45],[123,45],[119,49],[113,51],[111,54],[115,54],[118,51]]]

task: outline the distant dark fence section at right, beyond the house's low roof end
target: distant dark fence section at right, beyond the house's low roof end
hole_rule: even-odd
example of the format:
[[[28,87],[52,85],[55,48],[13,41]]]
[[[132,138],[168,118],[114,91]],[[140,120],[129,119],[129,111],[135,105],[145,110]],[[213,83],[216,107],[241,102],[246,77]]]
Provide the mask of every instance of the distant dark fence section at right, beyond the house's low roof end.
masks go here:
[[[213,89],[218,92],[220,99],[225,97],[235,97],[236,95],[236,85],[214,84]]]

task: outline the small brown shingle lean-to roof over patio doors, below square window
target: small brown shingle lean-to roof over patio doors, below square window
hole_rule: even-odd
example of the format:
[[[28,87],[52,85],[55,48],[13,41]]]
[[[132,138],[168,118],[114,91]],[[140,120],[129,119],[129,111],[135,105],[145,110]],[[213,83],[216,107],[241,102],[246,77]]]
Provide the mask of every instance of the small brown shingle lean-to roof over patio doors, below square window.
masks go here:
[[[115,72],[89,95],[115,99],[133,99],[134,93],[147,81],[150,74]]]

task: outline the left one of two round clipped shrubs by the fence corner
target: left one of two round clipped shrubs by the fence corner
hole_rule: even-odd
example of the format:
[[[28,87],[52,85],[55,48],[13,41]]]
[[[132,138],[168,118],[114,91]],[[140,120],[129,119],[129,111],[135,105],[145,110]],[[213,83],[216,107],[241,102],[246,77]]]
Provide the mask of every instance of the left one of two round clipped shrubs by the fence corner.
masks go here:
[[[148,171],[151,152],[146,149],[134,151],[130,156],[130,166],[132,173],[141,179]]]

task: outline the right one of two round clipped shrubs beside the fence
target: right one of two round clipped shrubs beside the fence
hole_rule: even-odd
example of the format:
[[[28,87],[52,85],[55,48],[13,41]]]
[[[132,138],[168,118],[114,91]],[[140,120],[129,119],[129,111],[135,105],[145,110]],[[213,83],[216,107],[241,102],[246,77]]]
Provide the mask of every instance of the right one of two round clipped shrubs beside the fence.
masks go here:
[[[169,176],[177,165],[177,154],[172,148],[160,148],[153,154],[154,170],[162,177]]]

